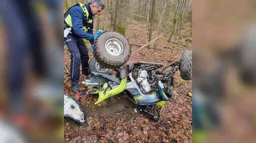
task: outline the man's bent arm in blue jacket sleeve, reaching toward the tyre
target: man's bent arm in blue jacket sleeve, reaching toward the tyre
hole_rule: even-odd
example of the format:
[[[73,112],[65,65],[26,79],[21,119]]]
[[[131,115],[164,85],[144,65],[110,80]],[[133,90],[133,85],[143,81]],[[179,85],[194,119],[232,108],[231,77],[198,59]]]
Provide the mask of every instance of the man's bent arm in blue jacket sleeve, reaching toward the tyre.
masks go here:
[[[82,29],[83,28],[83,17],[84,17],[83,10],[80,7],[76,7],[76,6],[71,9],[73,9],[70,11],[70,15],[72,18],[73,31],[74,31],[75,35],[85,38],[86,40],[93,41],[94,40],[93,34],[87,33]]]

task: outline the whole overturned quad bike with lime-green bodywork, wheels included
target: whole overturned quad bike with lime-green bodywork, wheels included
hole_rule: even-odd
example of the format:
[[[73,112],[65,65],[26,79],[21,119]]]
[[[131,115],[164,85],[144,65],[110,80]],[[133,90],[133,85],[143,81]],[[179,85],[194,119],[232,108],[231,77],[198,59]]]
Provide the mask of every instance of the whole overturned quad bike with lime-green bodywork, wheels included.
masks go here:
[[[191,80],[192,52],[184,52],[180,61],[165,68],[161,63],[126,63],[130,54],[129,43],[122,35],[116,32],[102,33],[95,41],[95,57],[89,64],[89,79],[82,82],[85,90],[74,97],[65,95],[65,116],[84,124],[85,113],[78,102],[81,96],[98,94],[99,98],[94,104],[99,104],[123,92],[134,103],[135,113],[148,115],[168,131],[168,125],[161,120],[157,109],[171,99],[173,76],[177,70],[183,80]]]

